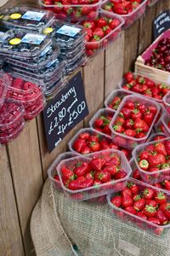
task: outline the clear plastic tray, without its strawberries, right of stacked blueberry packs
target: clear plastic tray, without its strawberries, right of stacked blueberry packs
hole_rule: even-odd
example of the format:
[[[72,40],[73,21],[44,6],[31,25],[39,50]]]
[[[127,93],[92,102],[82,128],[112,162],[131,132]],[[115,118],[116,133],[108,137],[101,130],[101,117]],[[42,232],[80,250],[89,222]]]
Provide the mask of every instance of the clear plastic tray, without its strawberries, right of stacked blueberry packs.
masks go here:
[[[99,17],[104,17],[107,19],[116,19],[120,21],[120,24],[116,26],[116,28],[113,29],[104,38],[101,38],[99,41],[86,42],[87,55],[89,56],[97,55],[99,54],[100,51],[103,51],[104,49],[106,49],[106,47],[117,38],[118,34],[122,31],[122,26],[124,24],[124,20],[120,15],[106,12],[103,9],[99,10]]]

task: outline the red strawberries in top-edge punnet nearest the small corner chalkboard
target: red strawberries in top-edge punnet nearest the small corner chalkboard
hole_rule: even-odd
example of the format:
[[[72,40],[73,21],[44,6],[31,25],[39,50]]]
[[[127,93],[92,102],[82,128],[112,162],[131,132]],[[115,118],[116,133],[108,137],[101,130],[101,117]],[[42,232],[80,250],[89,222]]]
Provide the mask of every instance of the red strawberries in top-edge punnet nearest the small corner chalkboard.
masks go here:
[[[139,5],[143,2],[143,0],[110,0],[105,3],[103,9],[117,15],[128,15],[139,8]]]

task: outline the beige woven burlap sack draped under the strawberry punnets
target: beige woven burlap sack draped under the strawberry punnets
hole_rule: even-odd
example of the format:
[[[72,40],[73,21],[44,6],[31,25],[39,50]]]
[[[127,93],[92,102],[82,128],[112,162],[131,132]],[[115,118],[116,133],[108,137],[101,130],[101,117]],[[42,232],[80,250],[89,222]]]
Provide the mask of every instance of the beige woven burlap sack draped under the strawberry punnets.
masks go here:
[[[74,244],[82,256],[170,255],[170,235],[158,238],[123,223],[107,204],[70,201],[49,181],[32,214],[31,236],[37,256],[67,256]]]

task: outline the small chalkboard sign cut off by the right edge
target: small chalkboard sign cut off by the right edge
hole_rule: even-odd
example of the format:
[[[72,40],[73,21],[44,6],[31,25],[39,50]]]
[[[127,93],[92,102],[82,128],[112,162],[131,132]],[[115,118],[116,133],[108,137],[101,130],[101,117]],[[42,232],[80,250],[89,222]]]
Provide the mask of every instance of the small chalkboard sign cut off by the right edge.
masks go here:
[[[170,28],[170,10],[167,9],[153,21],[154,40]]]

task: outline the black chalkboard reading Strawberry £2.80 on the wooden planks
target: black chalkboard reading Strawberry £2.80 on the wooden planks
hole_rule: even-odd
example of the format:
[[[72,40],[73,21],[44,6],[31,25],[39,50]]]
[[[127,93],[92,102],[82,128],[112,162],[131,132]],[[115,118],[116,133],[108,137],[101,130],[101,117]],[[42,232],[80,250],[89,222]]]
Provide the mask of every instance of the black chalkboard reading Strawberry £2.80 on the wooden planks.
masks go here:
[[[87,115],[88,105],[83,90],[82,74],[79,72],[43,110],[48,151],[51,152]]]

